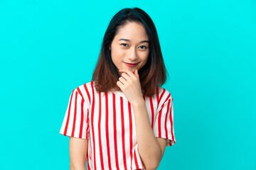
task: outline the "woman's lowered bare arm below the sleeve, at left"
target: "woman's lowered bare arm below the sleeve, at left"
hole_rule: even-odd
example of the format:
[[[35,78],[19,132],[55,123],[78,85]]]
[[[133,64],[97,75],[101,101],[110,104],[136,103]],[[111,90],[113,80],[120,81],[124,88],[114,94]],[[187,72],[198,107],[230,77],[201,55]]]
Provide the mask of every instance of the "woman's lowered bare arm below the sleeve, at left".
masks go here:
[[[85,170],[88,140],[70,137],[70,170]]]

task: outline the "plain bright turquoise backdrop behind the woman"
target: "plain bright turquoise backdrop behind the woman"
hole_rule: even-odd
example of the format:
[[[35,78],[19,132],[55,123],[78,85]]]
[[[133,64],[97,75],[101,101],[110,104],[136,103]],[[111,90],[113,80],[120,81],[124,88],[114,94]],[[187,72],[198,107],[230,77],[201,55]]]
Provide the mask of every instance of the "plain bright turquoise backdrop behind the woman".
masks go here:
[[[0,1],[0,169],[69,169],[59,134],[112,16],[156,25],[176,144],[159,169],[256,169],[256,1]]]

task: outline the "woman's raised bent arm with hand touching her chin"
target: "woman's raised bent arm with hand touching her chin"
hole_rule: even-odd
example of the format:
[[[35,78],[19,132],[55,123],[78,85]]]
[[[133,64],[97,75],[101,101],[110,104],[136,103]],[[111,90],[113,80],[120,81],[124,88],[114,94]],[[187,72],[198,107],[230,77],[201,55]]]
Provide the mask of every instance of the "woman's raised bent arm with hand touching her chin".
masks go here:
[[[164,155],[166,139],[154,136],[142,96],[138,70],[133,73],[129,69],[122,69],[119,72],[123,73],[117,86],[123,91],[134,111],[139,155],[146,170],[157,169]]]

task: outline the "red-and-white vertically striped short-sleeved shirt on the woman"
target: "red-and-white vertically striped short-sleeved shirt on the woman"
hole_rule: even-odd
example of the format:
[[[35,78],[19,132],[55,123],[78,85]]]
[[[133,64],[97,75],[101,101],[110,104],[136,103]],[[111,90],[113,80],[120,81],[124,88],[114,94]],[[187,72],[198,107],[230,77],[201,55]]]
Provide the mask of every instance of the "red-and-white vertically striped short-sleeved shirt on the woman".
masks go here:
[[[122,91],[95,90],[94,81],[73,89],[60,134],[89,139],[87,169],[145,169],[139,156],[134,112]],[[155,137],[174,145],[174,103],[171,94],[157,86],[144,97]]]

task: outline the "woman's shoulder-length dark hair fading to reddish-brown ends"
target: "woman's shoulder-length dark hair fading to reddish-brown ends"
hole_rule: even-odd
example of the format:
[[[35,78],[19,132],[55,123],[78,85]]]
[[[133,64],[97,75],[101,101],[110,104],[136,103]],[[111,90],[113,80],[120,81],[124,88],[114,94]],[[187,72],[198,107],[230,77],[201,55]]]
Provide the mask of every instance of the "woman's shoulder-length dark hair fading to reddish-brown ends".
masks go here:
[[[123,8],[116,13],[105,32],[100,57],[97,60],[92,80],[95,81],[95,89],[100,92],[107,92],[110,89],[121,91],[117,86],[119,72],[112,62],[109,46],[119,28],[122,28],[127,21],[142,23],[149,38],[149,57],[144,66],[139,69],[139,81],[144,96],[153,96],[156,93],[156,86],[162,86],[166,81],[166,67],[161,53],[159,38],[156,27],[149,15],[141,8]]]

